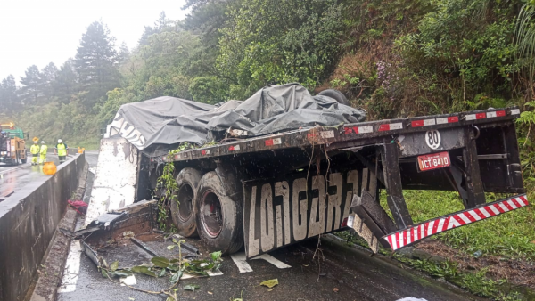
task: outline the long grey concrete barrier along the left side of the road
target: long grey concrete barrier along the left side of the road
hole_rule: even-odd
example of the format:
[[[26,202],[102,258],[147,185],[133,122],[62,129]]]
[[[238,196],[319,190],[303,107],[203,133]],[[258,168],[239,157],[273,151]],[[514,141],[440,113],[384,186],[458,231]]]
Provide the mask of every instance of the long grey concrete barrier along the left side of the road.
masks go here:
[[[0,300],[24,299],[85,164],[77,155],[0,203]]]

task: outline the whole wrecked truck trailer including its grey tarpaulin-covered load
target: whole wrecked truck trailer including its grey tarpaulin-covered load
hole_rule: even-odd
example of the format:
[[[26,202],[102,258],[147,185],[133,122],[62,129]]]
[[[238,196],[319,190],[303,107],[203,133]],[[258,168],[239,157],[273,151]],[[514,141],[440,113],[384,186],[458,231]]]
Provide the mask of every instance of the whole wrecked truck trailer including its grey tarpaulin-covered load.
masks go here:
[[[258,256],[348,227],[375,252],[379,245],[395,251],[528,205],[514,129],[519,109],[363,122],[363,110],[331,96],[268,86],[214,108],[181,102],[201,108],[181,117],[168,103],[159,126],[121,108],[111,128],[143,150],[138,184],[158,191],[164,164],[176,167],[170,208],[178,232],[226,253],[244,246]],[[218,142],[169,154],[210,139]],[[415,224],[403,190],[458,191],[465,210]],[[508,197],[487,203],[485,192]]]

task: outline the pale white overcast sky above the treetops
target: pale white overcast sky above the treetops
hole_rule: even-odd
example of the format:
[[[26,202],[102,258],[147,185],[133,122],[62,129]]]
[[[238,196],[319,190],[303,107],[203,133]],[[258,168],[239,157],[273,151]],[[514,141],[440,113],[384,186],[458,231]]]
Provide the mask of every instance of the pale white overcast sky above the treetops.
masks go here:
[[[31,65],[43,69],[53,61],[58,68],[74,58],[82,34],[103,20],[131,50],[144,31],[164,11],[182,20],[184,0],[2,0],[0,1],[0,80],[12,74],[20,82]]]

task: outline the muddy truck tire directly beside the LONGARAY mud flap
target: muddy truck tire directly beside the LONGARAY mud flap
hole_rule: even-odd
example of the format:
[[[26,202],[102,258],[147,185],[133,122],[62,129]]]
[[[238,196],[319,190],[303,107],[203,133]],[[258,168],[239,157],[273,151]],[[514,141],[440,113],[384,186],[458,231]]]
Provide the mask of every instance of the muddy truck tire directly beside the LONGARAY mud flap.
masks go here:
[[[242,248],[242,199],[227,196],[214,171],[202,176],[197,198],[197,232],[210,252],[232,254]]]

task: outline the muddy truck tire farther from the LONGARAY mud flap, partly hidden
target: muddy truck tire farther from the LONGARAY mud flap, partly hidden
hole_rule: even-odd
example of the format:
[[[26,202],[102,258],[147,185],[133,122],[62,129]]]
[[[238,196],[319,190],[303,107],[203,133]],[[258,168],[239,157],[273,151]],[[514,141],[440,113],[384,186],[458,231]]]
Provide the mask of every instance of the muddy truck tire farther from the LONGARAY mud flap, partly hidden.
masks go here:
[[[184,237],[197,235],[195,200],[202,174],[192,167],[185,167],[177,175],[177,199],[171,200],[171,217],[178,234]]]

